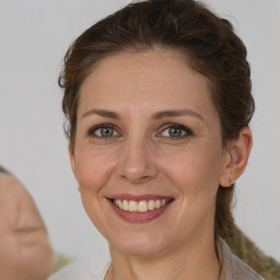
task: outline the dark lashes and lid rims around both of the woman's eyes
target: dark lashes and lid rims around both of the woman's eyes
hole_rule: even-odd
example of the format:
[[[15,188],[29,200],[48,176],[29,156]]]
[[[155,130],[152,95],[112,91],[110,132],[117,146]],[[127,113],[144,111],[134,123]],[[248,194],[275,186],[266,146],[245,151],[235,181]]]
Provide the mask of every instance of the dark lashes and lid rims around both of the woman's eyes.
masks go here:
[[[95,132],[98,130],[98,129],[114,129],[114,133],[115,131],[119,135],[118,130],[116,129],[116,127],[112,124],[101,124],[101,125],[97,125],[97,126],[94,126],[92,127],[89,131],[88,131],[88,136],[89,137],[95,137],[95,138],[112,138],[112,137],[115,137],[114,135],[113,136],[107,136],[107,137],[102,137],[102,136],[97,136],[95,135]],[[191,129],[189,129],[188,127],[185,127],[183,125],[179,125],[179,124],[165,124],[164,125],[164,129],[161,130],[160,133],[158,133],[156,136],[161,136],[165,130],[167,129],[178,129],[178,130],[182,130],[184,131],[185,135],[179,135],[178,137],[167,137],[167,136],[162,136],[164,138],[171,138],[173,140],[178,140],[178,139],[184,139],[186,137],[189,137],[189,136],[192,136],[194,132]]]

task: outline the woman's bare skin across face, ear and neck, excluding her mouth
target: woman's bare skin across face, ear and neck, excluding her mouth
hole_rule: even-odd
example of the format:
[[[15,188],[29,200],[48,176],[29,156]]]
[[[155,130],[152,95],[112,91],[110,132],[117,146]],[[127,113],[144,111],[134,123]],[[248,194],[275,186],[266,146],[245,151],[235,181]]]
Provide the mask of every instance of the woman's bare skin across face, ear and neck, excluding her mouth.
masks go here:
[[[170,110],[176,114],[162,114]],[[102,124],[114,126],[112,137],[101,137]],[[171,137],[173,124],[187,130]],[[109,242],[107,279],[217,280],[217,190],[241,175],[250,145],[245,128],[222,147],[209,81],[180,54],[154,49],[103,59],[81,86],[75,147],[69,152],[85,211]],[[119,194],[173,202],[152,221],[130,223],[107,199]]]

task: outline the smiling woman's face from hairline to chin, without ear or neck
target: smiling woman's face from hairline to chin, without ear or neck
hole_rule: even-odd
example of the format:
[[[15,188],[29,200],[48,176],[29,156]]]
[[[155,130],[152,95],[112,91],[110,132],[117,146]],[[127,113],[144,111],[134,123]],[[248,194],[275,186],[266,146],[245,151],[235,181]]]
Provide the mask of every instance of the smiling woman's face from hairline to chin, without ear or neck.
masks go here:
[[[209,81],[178,52],[96,66],[80,90],[70,158],[85,211],[112,247],[152,255],[213,240],[229,158],[220,130]]]

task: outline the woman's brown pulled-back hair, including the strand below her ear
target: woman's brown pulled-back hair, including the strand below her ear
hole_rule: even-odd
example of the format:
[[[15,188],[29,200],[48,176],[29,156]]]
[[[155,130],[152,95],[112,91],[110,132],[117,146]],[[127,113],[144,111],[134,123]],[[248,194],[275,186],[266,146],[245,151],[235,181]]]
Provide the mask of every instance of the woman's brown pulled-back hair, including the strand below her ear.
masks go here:
[[[124,51],[154,47],[179,50],[190,67],[209,78],[211,97],[221,120],[224,147],[248,126],[255,104],[250,94],[250,71],[246,48],[232,25],[192,0],[133,2],[101,20],[70,46],[59,85],[65,95],[62,109],[68,121],[66,135],[74,149],[79,89],[93,66]],[[219,187],[215,234],[226,236],[233,229],[234,185]]]

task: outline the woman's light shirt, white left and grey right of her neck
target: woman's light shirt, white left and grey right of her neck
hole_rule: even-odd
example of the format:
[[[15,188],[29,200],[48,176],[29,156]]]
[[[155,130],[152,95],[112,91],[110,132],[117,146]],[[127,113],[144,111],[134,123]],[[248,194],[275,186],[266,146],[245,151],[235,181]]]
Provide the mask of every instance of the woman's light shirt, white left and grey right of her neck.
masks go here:
[[[219,238],[217,243],[221,265],[219,280],[264,280],[245,262],[232,254],[228,244]],[[72,262],[52,275],[48,280],[104,280],[110,261],[96,268],[93,259],[88,262]]]

